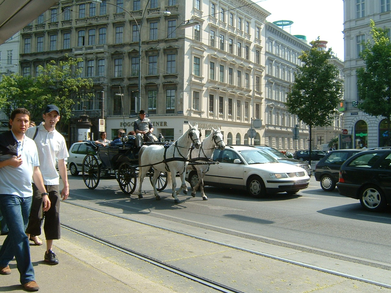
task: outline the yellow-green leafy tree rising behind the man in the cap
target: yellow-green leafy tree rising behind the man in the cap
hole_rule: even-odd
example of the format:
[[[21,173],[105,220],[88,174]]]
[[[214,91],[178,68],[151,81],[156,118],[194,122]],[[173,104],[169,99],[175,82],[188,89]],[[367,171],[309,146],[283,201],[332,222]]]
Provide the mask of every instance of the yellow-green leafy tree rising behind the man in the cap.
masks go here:
[[[52,60],[45,68],[39,66],[37,84],[43,90],[45,105],[55,104],[60,109],[59,129],[68,123],[76,103],[93,96],[93,93],[88,92],[93,86],[92,80],[81,77],[82,70],[78,68],[81,62],[81,58],[69,57],[66,61],[59,61],[58,65]]]

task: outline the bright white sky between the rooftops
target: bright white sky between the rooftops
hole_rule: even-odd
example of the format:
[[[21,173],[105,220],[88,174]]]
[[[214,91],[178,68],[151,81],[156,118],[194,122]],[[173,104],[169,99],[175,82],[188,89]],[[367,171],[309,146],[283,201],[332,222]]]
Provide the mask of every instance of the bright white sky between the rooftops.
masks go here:
[[[253,0],[271,13],[267,21],[291,20],[291,27],[284,27],[292,35],[304,35],[307,42],[320,37],[328,41],[334,55],[344,60],[343,0]]]

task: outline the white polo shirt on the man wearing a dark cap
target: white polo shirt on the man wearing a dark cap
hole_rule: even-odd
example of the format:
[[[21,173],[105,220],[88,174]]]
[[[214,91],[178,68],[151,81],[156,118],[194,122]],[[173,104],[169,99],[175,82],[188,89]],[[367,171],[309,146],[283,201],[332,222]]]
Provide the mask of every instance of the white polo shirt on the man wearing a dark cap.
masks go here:
[[[56,169],[56,159],[69,157],[64,137],[56,130],[47,131],[45,122],[38,127],[38,133],[34,139],[39,157],[39,170],[41,170],[43,183],[46,185],[59,185],[59,174]],[[26,131],[29,138],[33,138],[36,127],[30,127]]]

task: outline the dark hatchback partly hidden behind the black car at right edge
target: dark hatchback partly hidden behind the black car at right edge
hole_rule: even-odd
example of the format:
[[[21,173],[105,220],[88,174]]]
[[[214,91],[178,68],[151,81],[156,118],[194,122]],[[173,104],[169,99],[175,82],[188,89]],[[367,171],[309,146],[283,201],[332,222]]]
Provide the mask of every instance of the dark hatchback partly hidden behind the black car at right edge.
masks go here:
[[[315,167],[315,180],[320,181],[324,191],[333,191],[339,180],[339,168],[352,155],[361,152],[358,149],[331,150]]]

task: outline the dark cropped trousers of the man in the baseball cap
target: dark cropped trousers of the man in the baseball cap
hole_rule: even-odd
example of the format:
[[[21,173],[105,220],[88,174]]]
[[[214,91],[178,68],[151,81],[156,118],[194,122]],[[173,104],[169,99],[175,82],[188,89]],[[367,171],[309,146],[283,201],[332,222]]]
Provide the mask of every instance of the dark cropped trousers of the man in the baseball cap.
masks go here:
[[[29,217],[29,225],[26,233],[34,236],[41,235],[41,225],[43,223],[43,231],[45,239],[54,240],[60,239],[60,192],[58,185],[45,185],[49,193],[50,209],[43,213],[42,211],[42,196],[35,184],[32,184],[32,204]],[[43,220],[43,218],[45,218]]]

